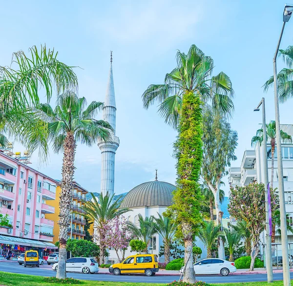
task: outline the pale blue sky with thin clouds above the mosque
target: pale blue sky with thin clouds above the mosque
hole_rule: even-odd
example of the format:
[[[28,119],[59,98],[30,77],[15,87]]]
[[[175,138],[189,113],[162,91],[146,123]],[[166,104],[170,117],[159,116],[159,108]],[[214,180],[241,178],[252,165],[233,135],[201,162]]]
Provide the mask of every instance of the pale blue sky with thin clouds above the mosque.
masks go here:
[[[263,93],[272,76],[272,57],[283,24],[282,0],[150,0],[2,1],[0,9],[0,65],[10,65],[12,53],[46,44],[59,52],[59,60],[76,66],[79,96],[87,102],[104,101],[113,51],[116,95],[115,193],[130,191],[158,179],[174,184],[172,144],[176,132],[157,114],[143,109],[141,95],[149,84],[163,83],[175,66],[177,50],[197,45],[214,60],[214,74],[223,71],[232,81],[235,111],[231,126],[238,132],[237,161],[251,149],[261,113],[253,112],[266,99],[267,121],[274,120],[273,90]],[[293,44],[293,20],[286,24],[280,48]],[[284,67],[277,62],[278,71]],[[56,96],[55,96],[56,98]],[[52,97],[51,104],[55,104]],[[280,122],[293,124],[293,99],[280,105]],[[98,114],[97,118],[101,118]],[[15,143],[14,151],[24,148]],[[50,152],[40,165],[38,153],[32,167],[61,179],[62,154]],[[100,191],[101,153],[98,146],[78,145],[75,180],[88,191]],[[228,180],[225,191],[228,194]]]

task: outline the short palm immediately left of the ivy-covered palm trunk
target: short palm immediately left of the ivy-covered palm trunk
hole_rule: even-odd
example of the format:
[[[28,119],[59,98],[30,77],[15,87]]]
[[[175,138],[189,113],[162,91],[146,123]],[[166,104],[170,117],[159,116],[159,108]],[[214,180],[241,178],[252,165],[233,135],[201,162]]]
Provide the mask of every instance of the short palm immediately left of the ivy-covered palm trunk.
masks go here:
[[[158,216],[159,217],[157,218],[153,217],[155,221],[154,227],[156,232],[159,233],[164,242],[165,263],[168,264],[170,262],[170,245],[175,234],[176,225],[169,217],[166,217],[159,213]]]

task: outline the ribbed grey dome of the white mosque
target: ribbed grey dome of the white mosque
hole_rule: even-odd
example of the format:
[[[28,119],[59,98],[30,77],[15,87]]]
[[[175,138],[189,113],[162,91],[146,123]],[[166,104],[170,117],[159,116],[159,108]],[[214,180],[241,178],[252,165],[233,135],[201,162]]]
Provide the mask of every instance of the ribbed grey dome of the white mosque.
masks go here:
[[[120,208],[170,206],[175,189],[174,185],[157,180],[140,184],[126,194]]]

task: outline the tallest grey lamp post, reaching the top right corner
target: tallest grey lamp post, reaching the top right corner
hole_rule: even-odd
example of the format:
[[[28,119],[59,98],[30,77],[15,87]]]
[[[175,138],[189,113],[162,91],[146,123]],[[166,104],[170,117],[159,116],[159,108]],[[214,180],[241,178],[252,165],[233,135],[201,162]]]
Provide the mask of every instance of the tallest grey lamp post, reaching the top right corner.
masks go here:
[[[280,200],[280,220],[281,220],[281,241],[282,241],[282,259],[283,259],[283,280],[284,286],[291,286],[290,269],[289,269],[289,251],[288,251],[288,237],[286,224],[286,206],[284,195],[284,180],[283,180],[283,162],[281,151],[281,134],[280,134],[280,113],[279,113],[279,96],[278,96],[278,82],[277,82],[277,64],[276,59],[283,36],[286,22],[292,16],[293,5],[286,4],[283,12],[283,27],[280,38],[277,44],[277,49],[274,54],[273,63],[273,87],[274,87],[274,102],[275,102],[275,121],[276,121],[276,145],[277,145],[277,160],[278,160],[278,176],[279,176],[279,200]]]

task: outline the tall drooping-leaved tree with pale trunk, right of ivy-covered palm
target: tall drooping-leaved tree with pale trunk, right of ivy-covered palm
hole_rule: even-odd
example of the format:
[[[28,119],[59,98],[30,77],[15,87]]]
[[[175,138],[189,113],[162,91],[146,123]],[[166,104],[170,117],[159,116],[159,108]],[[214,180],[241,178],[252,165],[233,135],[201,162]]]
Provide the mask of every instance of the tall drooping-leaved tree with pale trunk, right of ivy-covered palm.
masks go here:
[[[209,106],[203,115],[203,163],[202,177],[214,197],[216,209],[216,224],[222,226],[223,212],[221,210],[220,186],[222,178],[228,174],[227,167],[236,160],[235,150],[237,132],[231,129],[227,118],[213,111]],[[222,229],[222,227],[221,227]],[[225,259],[224,241],[218,237],[219,258]]]

